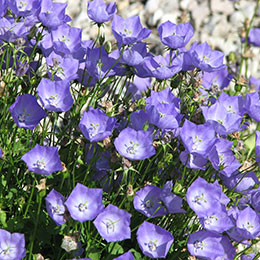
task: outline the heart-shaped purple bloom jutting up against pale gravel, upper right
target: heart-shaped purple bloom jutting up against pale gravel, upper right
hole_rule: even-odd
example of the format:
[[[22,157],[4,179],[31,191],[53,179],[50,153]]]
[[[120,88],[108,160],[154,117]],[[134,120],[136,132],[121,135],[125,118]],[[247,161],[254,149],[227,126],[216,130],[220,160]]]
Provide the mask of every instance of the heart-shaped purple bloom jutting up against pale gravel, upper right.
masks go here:
[[[162,23],[158,27],[161,42],[171,49],[185,47],[194,34],[190,23],[174,24],[170,21]]]

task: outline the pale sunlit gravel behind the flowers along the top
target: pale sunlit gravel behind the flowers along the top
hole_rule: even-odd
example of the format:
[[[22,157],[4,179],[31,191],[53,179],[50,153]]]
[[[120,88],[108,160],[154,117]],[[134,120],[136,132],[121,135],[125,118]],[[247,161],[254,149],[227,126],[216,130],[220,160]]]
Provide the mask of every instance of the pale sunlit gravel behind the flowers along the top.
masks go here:
[[[97,28],[87,15],[88,0],[56,0],[68,4],[67,14],[72,18],[71,25],[82,28],[83,40],[94,39]],[[109,2],[109,1],[106,1]],[[110,1],[111,2],[111,1]],[[240,54],[240,35],[246,19],[251,19],[256,0],[117,0],[117,14],[127,18],[139,15],[143,26],[152,29],[148,38],[156,54],[163,51],[157,27],[170,20],[173,23],[189,21],[195,30],[190,42],[207,41],[214,49]],[[260,8],[259,8],[260,9]],[[260,10],[253,23],[260,27]],[[115,41],[107,23],[102,31],[107,40]],[[189,45],[188,45],[189,46]],[[251,48],[253,59],[249,60],[249,75],[260,78],[260,48]]]

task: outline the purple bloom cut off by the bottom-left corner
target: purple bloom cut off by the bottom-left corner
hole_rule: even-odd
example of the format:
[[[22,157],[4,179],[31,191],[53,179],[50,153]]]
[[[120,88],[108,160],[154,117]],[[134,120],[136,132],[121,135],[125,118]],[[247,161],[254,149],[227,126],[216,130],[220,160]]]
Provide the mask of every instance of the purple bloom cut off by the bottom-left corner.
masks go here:
[[[0,229],[0,259],[21,260],[26,256],[24,234]]]

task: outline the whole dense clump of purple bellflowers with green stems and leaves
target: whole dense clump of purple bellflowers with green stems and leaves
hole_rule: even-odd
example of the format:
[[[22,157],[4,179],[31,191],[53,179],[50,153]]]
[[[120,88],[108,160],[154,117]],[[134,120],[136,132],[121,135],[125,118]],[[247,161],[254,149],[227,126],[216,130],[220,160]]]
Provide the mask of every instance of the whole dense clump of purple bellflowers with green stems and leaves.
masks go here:
[[[0,0],[0,260],[258,259],[248,57],[192,41],[187,21],[158,26],[155,55],[140,17],[103,0],[88,2],[98,35],[84,41],[66,7]],[[245,24],[247,52],[260,28]]]

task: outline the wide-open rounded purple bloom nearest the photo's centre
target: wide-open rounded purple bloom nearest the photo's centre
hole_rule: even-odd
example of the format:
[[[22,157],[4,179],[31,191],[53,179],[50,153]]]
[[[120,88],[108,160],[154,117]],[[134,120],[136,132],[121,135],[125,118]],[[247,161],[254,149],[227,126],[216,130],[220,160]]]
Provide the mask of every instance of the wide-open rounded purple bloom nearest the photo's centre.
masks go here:
[[[156,153],[151,132],[129,127],[120,132],[114,145],[122,156],[130,160],[144,160]]]

